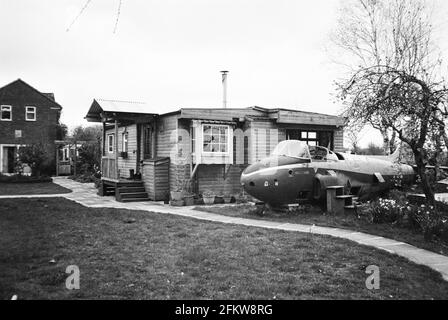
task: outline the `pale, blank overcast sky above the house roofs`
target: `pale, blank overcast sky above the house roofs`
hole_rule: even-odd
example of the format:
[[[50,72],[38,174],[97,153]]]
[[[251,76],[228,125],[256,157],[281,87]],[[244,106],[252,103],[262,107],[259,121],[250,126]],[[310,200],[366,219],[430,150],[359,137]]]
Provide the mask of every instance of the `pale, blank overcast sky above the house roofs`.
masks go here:
[[[221,107],[221,70],[230,107],[340,111],[328,54],[339,0],[122,0],[114,32],[119,2],[91,0],[75,19],[86,0],[0,0],[0,86],[54,92],[69,128],[88,125],[94,98]]]

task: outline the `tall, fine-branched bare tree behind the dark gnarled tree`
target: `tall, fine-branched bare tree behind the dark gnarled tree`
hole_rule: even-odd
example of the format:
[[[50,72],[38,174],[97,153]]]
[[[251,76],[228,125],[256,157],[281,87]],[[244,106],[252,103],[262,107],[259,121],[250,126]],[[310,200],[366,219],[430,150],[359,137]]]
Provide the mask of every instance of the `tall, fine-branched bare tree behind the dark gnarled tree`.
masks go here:
[[[425,1],[343,1],[341,10],[332,41],[340,49],[336,61],[349,73],[372,66],[388,66],[408,74],[434,70],[438,60],[433,57],[430,10]],[[397,134],[389,122],[381,115],[369,120],[381,132],[385,152],[393,153]]]

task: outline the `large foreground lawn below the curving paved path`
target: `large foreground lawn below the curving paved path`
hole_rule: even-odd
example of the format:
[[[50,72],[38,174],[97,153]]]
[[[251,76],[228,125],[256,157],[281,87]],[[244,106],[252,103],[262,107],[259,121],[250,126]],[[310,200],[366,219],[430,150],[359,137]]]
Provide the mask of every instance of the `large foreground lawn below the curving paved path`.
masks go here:
[[[0,199],[0,234],[0,299],[448,298],[437,272],[350,241],[62,198]],[[65,289],[68,265],[80,290]]]

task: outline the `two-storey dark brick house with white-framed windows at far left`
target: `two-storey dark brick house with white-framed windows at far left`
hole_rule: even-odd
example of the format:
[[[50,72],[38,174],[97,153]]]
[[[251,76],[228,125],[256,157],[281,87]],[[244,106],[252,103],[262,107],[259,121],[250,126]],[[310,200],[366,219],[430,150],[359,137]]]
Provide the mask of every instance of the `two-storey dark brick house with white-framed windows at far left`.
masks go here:
[[[43,143],[54,161],[62,107],[53,93],[42,93],[21,79],[0,88],[0,173],[14,173],[21,146]]]

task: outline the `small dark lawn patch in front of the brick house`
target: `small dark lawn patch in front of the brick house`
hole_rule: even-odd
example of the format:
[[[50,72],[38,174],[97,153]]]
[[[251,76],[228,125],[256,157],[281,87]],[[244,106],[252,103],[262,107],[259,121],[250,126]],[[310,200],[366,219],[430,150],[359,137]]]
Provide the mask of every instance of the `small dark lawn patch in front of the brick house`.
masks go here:
[[[71,190],[61,187],[60,185],[57,185],[53,182],[35,182],[35,183],[0,182],[0,196],[61,194],[70,192]]]

